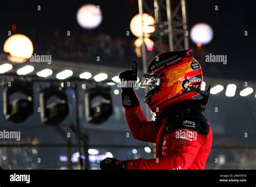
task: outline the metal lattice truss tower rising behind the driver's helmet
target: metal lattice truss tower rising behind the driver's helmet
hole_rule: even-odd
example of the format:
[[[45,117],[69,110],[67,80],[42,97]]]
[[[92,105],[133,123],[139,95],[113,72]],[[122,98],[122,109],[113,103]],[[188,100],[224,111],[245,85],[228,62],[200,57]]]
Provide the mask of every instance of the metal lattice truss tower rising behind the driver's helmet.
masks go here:
[[[138,0],[138,5],[142,21],[143,13],[147,13],[154,18],[154,26],[156,28],[156,31],[151,33],[151,40],[154,42],[154,47],[151,52],[146,50],[143,31],[142,60],[143,72],[146,73],[150,61],[157,54],[188,49],[186,0]],[[147,91],[148,90],[145,89],[145,93]],[[147,106],[146,117],[149,120],[153,118],[152,112]],[[151,157],[154,157],[154,144],[149,143],[149,147],[152,150]]]

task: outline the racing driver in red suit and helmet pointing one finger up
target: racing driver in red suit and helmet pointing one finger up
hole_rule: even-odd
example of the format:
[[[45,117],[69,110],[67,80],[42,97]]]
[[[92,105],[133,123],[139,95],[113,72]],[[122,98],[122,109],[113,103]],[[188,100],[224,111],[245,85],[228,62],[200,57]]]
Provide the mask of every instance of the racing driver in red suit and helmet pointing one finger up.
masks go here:
[[[121,82],[137,81],[137,62],[119,74]],[[212,130],[203,116],[210,86],[201,90],[203,72],[192,50],[159,54],[150,62],[140,87],[147,87],[144,103],[156,113],[147,121],[133,87],[122,84],[127,123],[137,140],[156,143],[156,159],[121,161],[106,158],[102,170],[205,169],[212,147]],[[129,84],[130,85],[130,84]],[[135,84],[133,84],[135,85]]]

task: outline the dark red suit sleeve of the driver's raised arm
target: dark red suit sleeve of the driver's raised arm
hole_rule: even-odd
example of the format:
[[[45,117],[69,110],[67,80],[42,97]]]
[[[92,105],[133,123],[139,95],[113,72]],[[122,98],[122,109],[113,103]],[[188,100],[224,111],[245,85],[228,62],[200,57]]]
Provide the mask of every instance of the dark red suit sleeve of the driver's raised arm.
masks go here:
[[[154,121],[147,121],[140,106],[125,108],[125,116],[135,139],[156,143],[159,127],[154,127]]]

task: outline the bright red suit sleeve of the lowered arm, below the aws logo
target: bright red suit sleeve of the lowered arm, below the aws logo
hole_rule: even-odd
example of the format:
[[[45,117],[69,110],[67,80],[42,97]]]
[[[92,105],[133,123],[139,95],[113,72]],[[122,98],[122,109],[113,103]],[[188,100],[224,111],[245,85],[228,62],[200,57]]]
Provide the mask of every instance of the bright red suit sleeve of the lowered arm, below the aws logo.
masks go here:
[[[206,138],[206,134],[199,134],[197,130],[179,125],[179,128],[171,132],[171,147],[168,155],[159,159],[129,160],[127,169],[188,169]]]

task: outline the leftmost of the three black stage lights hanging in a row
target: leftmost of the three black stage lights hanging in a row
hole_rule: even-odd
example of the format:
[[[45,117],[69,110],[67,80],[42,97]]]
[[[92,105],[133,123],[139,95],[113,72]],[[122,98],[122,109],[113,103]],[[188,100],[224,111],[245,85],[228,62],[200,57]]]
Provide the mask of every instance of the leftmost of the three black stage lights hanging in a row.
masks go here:
[[[14,81],[6,82],[3,86],[5,119],[14,123],[22,123],[33,113],[33,84],[25,81]],[[19,98],[10,101],[14,94],[17,94]]]

